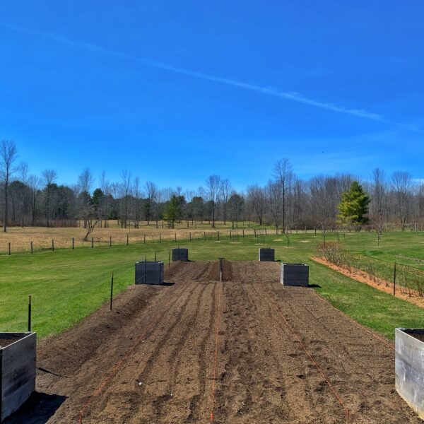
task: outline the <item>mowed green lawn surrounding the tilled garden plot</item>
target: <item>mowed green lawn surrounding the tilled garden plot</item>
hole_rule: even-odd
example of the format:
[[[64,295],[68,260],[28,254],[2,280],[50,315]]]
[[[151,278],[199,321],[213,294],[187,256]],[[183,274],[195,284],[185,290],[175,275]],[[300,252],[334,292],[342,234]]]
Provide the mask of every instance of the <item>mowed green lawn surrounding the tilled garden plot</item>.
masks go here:
[[[327,241],[337,240],[335,233]],[[384,233],[377,247],[375,233],[360,232],[338,235],[341,245],[384,261],[398,261],[424,267],[424,236],[411,232]],[[28,319],[28,295],[33,295],[33,330],[40,337],[57,334],[94,312],[110,296],[110,276],[114,272],[114,293],[134,283],[134,263],[157,259],[167,263],[172,247],[189,247],[193,260],[257,260],[261,246],[276,249],[276,259],[307,262],[314,290],[356,321],[394,338],[397,326],[423,327],[424,309],[343,276],[314,263],[322,235],[313,232],[284,235],[235,237],[225,235],[216,240],[188,240],[146,245],[112,245],[90,249],[59,249],[54,252],[12,254],[0,257],[0,331],[25,331]]]

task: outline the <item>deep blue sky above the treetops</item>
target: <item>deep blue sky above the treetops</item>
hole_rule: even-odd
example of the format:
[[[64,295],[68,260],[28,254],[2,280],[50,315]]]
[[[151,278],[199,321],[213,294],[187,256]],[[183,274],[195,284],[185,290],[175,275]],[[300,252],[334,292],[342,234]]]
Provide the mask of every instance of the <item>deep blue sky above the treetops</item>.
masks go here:
[[[424,4],[37,1],[0,6],[0,138],[30,171],[237,188],[375,167],[424,178]]]

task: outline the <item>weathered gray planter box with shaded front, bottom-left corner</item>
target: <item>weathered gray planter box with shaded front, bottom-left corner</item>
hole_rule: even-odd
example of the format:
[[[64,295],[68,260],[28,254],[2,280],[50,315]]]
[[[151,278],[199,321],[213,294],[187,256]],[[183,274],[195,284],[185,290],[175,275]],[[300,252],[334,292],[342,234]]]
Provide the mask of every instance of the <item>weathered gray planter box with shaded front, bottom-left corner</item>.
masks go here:
[[[0,333],[0,423],[35,390],[35,333]]]

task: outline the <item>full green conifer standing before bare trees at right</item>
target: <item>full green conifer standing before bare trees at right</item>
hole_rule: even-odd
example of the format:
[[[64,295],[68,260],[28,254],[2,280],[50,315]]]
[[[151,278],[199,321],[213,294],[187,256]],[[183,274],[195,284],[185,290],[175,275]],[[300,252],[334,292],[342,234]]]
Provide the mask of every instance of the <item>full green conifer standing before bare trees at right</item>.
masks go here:
[[[367,213],[370,196],[364,192],[363,187],[353,181],[351,188],[341,195],[338,204],[338,220],[343,224],[362,225],[368,223]]]

